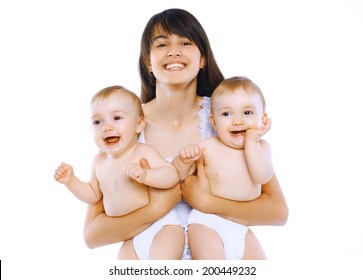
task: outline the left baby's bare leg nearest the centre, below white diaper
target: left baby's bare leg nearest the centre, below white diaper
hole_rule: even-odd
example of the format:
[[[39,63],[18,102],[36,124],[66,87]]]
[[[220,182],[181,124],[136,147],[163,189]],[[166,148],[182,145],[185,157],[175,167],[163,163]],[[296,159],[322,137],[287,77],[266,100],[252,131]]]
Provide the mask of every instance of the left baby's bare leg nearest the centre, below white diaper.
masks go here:
[[[185,245],[184,229],[179,225],[165,225],[151,243],[150,260],[180,260]]]

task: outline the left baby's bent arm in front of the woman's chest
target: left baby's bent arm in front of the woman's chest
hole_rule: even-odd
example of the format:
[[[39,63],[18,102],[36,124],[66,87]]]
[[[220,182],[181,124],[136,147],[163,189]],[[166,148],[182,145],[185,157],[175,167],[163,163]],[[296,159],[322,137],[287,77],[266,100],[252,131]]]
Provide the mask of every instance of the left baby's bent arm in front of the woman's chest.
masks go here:
[[[129,163],[126,166],[126,174],[150,187],[159,189],[174,187],[179,182],[178,171],[150,146],[144,145],[143,148],[150,169],[145,169],[138,163]]]

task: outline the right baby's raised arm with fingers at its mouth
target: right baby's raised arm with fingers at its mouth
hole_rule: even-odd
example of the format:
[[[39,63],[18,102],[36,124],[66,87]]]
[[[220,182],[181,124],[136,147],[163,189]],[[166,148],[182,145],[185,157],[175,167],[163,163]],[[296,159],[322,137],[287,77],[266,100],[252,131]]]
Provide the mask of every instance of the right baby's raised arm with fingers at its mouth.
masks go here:
[[[261,137],[270,129],[271,122],[262,128],[249,129],[246,132],[245,156],[248,170],[254,182],[266,184],[274,174],[271,161],[271,148]]]

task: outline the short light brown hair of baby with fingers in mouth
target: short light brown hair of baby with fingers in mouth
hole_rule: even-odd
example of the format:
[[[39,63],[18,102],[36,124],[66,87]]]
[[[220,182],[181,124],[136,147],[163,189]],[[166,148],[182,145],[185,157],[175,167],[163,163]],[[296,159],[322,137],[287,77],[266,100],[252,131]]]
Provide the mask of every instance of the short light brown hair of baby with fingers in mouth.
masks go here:
[[[239,89],[242,89],[244,92],[248,94],[258,94],[261,99],[263,112],[265,112],[266,102],[261,89],[249,78],[242,76],[235,76],[232,78],[225,79],[223,82],[219,84],[219,86],[214,90],[212,94],[211,108],[213,108],[213,101],[215,97],[233,94]]]

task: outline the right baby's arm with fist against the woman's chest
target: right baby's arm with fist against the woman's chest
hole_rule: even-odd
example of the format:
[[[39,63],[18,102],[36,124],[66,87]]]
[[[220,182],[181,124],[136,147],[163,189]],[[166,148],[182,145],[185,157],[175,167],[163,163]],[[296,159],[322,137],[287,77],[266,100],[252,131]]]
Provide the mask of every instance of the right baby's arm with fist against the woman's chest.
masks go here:
[[[185,180],[186,177],[194,174],[195,161],[201,158],[204,151],[204,147],[194,144],[187,145],[179,151],[179,156],[173,160],[172,164],[178,170],[180,180]]]

